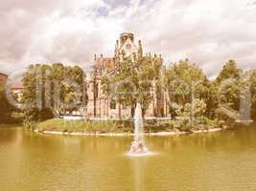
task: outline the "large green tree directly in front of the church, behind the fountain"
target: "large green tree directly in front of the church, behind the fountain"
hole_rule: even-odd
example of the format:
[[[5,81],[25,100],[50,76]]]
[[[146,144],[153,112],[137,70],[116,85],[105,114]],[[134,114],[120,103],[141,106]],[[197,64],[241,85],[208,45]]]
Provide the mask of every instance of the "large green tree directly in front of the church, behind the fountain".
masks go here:
[[[159,58],[127,57],[117,61],[115,71],[102,77],[103,91],[110,99],[131,107],[131,117],[137,102],[143,106],[143,113],[151,103],[152,81],[158,78],[161,69]]]

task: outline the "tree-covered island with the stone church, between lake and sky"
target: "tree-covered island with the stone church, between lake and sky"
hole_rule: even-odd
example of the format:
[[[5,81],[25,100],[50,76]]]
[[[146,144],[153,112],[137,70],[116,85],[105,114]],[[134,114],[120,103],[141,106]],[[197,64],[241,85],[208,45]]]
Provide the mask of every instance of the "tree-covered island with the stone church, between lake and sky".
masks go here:
[[[229,60],[210,80],[191,60],[165,63],[134,39],[122,33],[113,57],[95,55],[90,72],[79,65],[31,65],[19,95],[9,84],[2,89],[13,102],[3,105],[2,116],[22,118],[40,133],[101,136],[132,135],[137,103],[149,136],[216,132],[256,118],[256,71]]]

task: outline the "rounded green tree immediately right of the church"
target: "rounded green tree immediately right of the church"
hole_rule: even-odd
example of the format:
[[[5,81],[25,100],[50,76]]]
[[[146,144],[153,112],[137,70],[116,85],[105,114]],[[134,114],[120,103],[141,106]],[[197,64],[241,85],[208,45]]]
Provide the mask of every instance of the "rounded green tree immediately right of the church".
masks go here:
[[[177,114],[175,114],[175,108],[173,109],[172,105],[178,104],[184,107],[196,98],[204,100],[210,98],[209,80],[198,66],[191,63],[189,59],[181,60],[167,69],[164,83],[168,89],[171,103],[173,103],[170,107],[173,117]]]

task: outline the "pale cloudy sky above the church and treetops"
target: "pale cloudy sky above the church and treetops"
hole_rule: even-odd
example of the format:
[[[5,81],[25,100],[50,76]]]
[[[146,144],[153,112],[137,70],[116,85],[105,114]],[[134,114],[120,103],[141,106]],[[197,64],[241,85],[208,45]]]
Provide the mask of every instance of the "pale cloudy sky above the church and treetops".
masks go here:
[[[256,0],[0,1],[0,72],[34,63],[79,64],[112,56],[121,32],[165,64],[189,58],[214,78],[235,59],[256,69]]]

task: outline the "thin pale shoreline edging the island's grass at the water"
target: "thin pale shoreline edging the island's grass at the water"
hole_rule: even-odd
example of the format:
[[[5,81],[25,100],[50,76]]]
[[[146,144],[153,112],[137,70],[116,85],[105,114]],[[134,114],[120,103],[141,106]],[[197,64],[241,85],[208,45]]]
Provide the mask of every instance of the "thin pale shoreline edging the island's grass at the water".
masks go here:
[[[216,133],[225,130],[224,128],[214,128],[209,130],[192,130],[191,132],[178,131],[178,132],[157,132],[157,133],[144,133],[146,137],[172,137],[189,134],[207,134]],[[54,130],[34,130],[35,133],[44,135],[57,135],[57,136],[82,136],[82,137],[133,137],[133,133],[87,133],[87,132],[71,132],[71,131],[54,131]]]

